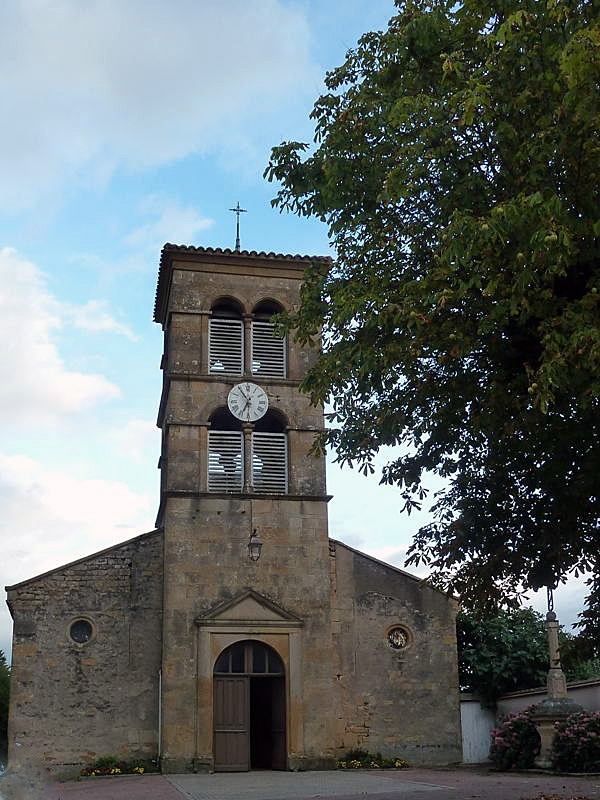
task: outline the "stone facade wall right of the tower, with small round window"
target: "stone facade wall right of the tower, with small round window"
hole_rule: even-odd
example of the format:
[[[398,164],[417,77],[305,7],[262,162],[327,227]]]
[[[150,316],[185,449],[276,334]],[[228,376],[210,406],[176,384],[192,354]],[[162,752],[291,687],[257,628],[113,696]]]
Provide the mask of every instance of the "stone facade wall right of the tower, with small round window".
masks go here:
[[[339,542],[331,555],[338,757],[358,747],[411,764],[460,761],[455,602]],[[410,634],[404,649],[387,641],[394,625]]]

